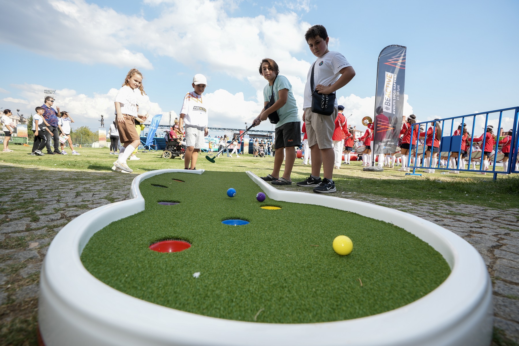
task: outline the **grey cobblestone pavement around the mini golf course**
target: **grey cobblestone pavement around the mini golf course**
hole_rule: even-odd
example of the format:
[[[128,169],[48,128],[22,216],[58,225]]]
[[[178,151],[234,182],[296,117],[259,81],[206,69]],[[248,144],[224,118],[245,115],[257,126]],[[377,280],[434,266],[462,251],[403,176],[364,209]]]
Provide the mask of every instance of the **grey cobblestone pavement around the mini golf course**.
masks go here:
[[[0,179],[12,183],[0,195],[0,344],[35,344],[39,270],[51,240],[74,217],[129,198],[134,177],[0,165]],[[430,204],[416,201],[338,196],[367,197],[430,220],[471,243],[492,278],[494,325],[519,342],[519,210],[438,203],[428,212]]]

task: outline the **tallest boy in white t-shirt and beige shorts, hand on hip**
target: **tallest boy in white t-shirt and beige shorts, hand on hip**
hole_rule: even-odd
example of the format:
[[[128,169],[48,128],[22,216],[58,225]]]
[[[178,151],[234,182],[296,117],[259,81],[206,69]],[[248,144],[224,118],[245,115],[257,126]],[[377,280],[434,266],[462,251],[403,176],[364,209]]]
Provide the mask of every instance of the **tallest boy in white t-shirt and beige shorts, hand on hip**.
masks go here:
[[[314,192],[335,192],[335,183],[332,179],[333,152],[332,135],[335,130],[335,118],[337,117],[337,99],[335,100],[335,112],[331,116],[313,113],[312,93],[331,94],[344,87],[355,76],[355,71],[343,54],[328,50],[330,37],[322,25],[313,25],[305,34],[310,51],[317,57],[315,63],[310,66],[305,85],[303,102],[303,120],[305,121],[308,146],[312,159],[312,173],[305,181],[297,183],[298,186],[314,187]],[[313,85],[315,90],[310,90],[311,73],[313,72]],[[340,75],[340,76],[339,76]],[[323,176],[321,180],[321,165]]]

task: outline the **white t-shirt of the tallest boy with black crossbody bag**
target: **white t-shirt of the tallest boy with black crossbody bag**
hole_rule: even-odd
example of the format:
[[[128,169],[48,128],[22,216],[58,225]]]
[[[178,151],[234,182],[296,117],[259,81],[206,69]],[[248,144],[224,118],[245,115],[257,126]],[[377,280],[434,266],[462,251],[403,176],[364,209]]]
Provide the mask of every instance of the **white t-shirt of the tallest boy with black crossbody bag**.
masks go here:
[[[310,108],[312,106],[312,91],[310,90],[310,81],[312,77],[312,65],[308,70],[308,76],[306,78],[305,94],[303,109]],[[316,59],[315,67],[313,70],[313,87],[315,88],[318,84],[329,86],[334,84],[340,77],[340,70],[344,67],[351,66],[348,60],[339,52],[327,52],[322,57]],[[337,98],[335,98],[335,107],[337,107]]]

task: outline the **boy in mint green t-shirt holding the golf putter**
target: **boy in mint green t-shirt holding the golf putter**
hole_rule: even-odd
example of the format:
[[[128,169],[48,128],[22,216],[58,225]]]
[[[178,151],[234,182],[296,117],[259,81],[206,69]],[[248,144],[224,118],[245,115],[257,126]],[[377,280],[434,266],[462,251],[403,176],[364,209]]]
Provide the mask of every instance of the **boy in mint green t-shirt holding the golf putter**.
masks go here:
[[[292,94],[292,85],[285,76],[279,74],[278,64],[272,59],[263,59],[260,65],[260,74],[268,81],[263,88],[264,106],[270,101],[272,91],[274,91],[275,103],[269,108],[264,108],[260,115],[254,119],[254,126],[267,120],[268,116],[277,111],[279,122],[276,124],[276,143],[274,149],[274,169],[272,174],[262,177],[264,181],[272,182],[273,185],[290,185],[292,180],[290,174],[296,158],[294,147],[301,145],[301,116],[297,112],[297,104]],[[283,149],[285,149],[285,170],[283,175],[279,175],[281,164],[283,163]]]

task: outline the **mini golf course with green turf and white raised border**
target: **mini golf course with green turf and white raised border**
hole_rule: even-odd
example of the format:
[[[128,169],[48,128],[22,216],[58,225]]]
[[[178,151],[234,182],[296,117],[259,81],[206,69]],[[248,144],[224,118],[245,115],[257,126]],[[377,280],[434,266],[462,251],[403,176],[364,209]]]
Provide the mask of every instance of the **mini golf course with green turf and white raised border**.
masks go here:
[[[43,344],[489,344],[491,283],[465,240],[245,173],[146,172],[63,227],[40,275]]]

